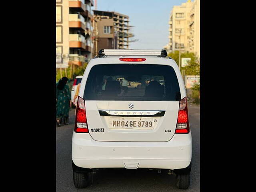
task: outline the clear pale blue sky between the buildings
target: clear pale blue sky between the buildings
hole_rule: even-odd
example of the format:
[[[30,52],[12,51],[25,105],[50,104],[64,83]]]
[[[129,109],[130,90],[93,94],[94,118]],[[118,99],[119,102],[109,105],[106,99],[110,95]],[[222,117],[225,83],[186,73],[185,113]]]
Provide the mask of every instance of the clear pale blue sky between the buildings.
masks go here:
[[[187,0],[97,0],[97,10],[129,16],[130,25],[134,26],[133,38],[138,39],[130,43],[130,49],[162,49],[169,41],[170,11],[185,2]]]

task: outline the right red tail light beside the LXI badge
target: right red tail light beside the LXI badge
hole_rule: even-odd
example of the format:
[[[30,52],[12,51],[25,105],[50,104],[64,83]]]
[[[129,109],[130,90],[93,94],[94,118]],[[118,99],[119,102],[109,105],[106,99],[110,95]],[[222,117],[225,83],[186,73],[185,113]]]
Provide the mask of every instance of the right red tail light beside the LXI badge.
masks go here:
[[[175,133],[189,133],[188,102],[186,97],[180,101]]]

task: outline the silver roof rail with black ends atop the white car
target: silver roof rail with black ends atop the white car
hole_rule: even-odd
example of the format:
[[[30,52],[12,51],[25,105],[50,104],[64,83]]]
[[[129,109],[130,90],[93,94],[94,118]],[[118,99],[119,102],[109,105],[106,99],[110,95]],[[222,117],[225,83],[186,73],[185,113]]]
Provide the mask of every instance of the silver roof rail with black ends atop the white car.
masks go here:
[[[101,49],[98,56],[158,56],[167,57],[166,50]]]

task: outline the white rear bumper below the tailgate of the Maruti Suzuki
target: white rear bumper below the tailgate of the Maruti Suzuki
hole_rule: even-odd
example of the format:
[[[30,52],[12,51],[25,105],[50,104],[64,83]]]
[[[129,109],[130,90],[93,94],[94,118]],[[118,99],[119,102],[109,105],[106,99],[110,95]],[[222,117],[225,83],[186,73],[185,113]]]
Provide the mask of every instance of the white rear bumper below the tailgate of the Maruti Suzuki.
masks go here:
[[[72,160],[81,168],[181,169],[192,156],[191,133],[174,134],[168,142],[100,142],[73,133]]]

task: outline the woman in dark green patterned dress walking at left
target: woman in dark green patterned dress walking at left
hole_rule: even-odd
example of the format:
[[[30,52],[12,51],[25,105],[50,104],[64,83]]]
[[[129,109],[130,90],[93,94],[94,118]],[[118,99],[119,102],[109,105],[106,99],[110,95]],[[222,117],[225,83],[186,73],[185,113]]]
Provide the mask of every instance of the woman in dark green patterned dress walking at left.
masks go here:
[[[56,122],[61,126],[62,120],[68,125],[68,114],[71,107],[70,90],[67,85],[68,78],[63,77],[56,86]]]

